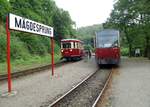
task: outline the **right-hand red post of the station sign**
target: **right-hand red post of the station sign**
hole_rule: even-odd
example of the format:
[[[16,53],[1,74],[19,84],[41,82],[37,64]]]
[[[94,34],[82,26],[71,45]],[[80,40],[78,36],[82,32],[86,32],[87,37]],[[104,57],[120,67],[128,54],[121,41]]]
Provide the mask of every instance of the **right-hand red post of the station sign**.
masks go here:
[[[52,63],[52,76],[54,75],[54,39],[51,37],[51,63]]]

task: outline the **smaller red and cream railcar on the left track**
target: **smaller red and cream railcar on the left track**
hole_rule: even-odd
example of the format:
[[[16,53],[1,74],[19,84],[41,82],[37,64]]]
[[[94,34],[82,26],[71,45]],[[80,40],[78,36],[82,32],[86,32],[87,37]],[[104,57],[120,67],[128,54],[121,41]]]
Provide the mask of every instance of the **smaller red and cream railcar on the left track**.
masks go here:
[[[82,59],[83,42],[78,39],[62,39],[61,40],[61,54],[62,58],[66,60]]]

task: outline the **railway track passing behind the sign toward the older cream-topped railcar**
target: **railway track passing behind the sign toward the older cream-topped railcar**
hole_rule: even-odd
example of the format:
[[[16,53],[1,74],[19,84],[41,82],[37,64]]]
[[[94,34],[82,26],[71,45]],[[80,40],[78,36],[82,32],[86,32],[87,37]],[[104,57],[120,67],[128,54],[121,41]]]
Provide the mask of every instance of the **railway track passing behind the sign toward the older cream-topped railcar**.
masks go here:
[[[66,61],[58,62],[58,63],[55,64],[55,67],[59,67],[59,66],[69,64],[69,63],[71,63],[71,62],[66,62]],[[47,70],[47,69],[50,69],[50,68],[51,68],[51,64],[48,64],[48,65],[39,66],[39,67],[36,67],[36,68],[31,68],[31,69],[27,69],[27,70],[23,70],[23,71],[17,71],[17,72],[13,72],[11,74],[11,77],[12,78],[17,78],[17,77],[29,75],[29,74],[32,74],[32,73],[35,73],[35,72],[44,71],[44,70]],[[0,75],[0,81],[6,80],[6,79],[7,79],[7,74]]]

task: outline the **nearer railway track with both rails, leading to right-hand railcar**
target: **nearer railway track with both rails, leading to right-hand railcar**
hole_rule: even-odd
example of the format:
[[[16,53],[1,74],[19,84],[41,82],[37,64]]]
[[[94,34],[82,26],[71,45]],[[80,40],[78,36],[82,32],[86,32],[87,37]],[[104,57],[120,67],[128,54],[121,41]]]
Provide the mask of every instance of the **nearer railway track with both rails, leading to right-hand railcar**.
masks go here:
[[[111,75],[112,69],[97,70],[51,104],[41,107],[95,107]]]

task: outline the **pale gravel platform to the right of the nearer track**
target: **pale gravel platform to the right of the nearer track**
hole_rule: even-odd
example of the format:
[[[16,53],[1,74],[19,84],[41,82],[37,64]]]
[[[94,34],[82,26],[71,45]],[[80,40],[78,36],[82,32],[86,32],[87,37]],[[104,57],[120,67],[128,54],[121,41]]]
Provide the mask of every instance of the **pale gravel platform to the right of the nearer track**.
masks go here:
[[[123,59],[110,90],[104,107],[150,107],[150,60]]]

